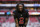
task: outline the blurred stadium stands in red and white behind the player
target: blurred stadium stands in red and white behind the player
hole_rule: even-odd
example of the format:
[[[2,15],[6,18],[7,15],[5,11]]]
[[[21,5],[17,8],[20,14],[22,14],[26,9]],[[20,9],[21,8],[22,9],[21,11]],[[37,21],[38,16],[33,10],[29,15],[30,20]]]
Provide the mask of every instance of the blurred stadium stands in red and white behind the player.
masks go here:
[[[29,11],[27,27],[40,27],[40,0],[0,0],[0,27],[15,27],[13,11],[17,3],[24,3]]]

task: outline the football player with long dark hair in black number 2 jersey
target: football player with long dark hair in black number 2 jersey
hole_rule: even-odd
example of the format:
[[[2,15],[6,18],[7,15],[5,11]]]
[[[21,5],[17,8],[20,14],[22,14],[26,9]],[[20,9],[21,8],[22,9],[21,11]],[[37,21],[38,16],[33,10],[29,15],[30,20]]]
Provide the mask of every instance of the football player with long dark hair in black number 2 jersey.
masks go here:
[[[13,14],[16,27],[26,27],[29,19],[29,13],[27,9],[24,9],[24,4],[18,3]]]

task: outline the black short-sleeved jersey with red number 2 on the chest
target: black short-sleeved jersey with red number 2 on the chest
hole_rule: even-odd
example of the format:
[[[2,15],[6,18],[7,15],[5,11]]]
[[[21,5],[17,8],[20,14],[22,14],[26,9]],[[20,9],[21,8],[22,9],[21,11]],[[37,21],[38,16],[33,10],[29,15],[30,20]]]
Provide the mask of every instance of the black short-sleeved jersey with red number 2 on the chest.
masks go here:
[[[19,25],[25,24],[25,18],[29,17],[28,10],[24,10],[23,12],[20,11],[14,11],[14,19],[18,19]]]

